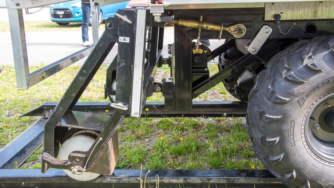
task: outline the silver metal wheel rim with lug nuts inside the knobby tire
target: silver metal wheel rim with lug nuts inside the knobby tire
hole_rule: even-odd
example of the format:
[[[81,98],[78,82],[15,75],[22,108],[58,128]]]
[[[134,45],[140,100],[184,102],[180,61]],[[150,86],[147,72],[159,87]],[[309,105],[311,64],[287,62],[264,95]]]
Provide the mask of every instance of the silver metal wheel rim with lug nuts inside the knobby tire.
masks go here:
[[[312,105],[304,123],[305,142],[321,162],[334,163],[334,93]]]

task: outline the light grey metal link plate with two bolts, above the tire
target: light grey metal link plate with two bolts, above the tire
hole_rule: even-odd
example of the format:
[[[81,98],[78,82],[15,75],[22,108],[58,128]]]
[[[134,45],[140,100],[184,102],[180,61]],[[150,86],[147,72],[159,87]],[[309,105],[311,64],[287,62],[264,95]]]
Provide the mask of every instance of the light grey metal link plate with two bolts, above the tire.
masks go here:
[[[257,54],[260,48],[263,46],[263,44],[266,42],[270,34],[272,33],[273,29],[269,27],[268,25],[264,25],[259,33],[256,35],[254,40],[251,42],[251,44],[247,44],[245,48],[247,51],[251,54]]]

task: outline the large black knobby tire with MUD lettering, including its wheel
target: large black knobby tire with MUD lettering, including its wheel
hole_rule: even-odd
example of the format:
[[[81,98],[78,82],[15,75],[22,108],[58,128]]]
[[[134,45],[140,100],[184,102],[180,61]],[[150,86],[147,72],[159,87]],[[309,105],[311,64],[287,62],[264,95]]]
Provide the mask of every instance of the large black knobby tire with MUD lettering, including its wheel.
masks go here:
[[[334,36],[292,44],[256,78],[248,134],[259,159],[287,186],[334,187],[334,128],[323,120],[333,108]]]

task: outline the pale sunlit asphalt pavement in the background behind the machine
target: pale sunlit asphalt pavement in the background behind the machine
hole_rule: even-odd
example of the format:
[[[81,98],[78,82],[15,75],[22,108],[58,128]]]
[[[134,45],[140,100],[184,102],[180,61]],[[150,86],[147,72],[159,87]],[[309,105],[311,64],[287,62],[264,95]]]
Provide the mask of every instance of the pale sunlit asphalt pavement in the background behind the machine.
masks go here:
[[[37,11],[40,8],[29,9],[29,12]],[[6,20],[7,15],[7,20]],[[8,21],[7,8],[0,8],[0,21]],[[25,21],[45,21],[50,20],[49,8],[42,8],[39,12],[26,15],[24,13]],[[45,65],[55,62],[63,57],[66,57],[76,51],[79,51],[85,47],[82,46],[81,31],[63,31],[63,32],[26,32],[26,43],[28,52],[29,65]],[[100,32],[100,35],[102,32]],[[93,43],[92,31],[89,32],[90,43]],[[13,50],[11,44],[10,32],[0,32],[0,38],[2,39],[2,45],[0,45],[0,53],[2,60],[0,65],[14,65]],[[174,30],[171,28],[165,29],[163,56],[167,57],[167,45],[173,43]],[[223,40],[210,40],[210,49],[215,49],[221,45]],[[110,52],[105,60],[105,63],[109,63],[117,55],[117,44]],[[78,61],[83,63],[86,58]],[[210,62],[218,62],[218,58]]]

